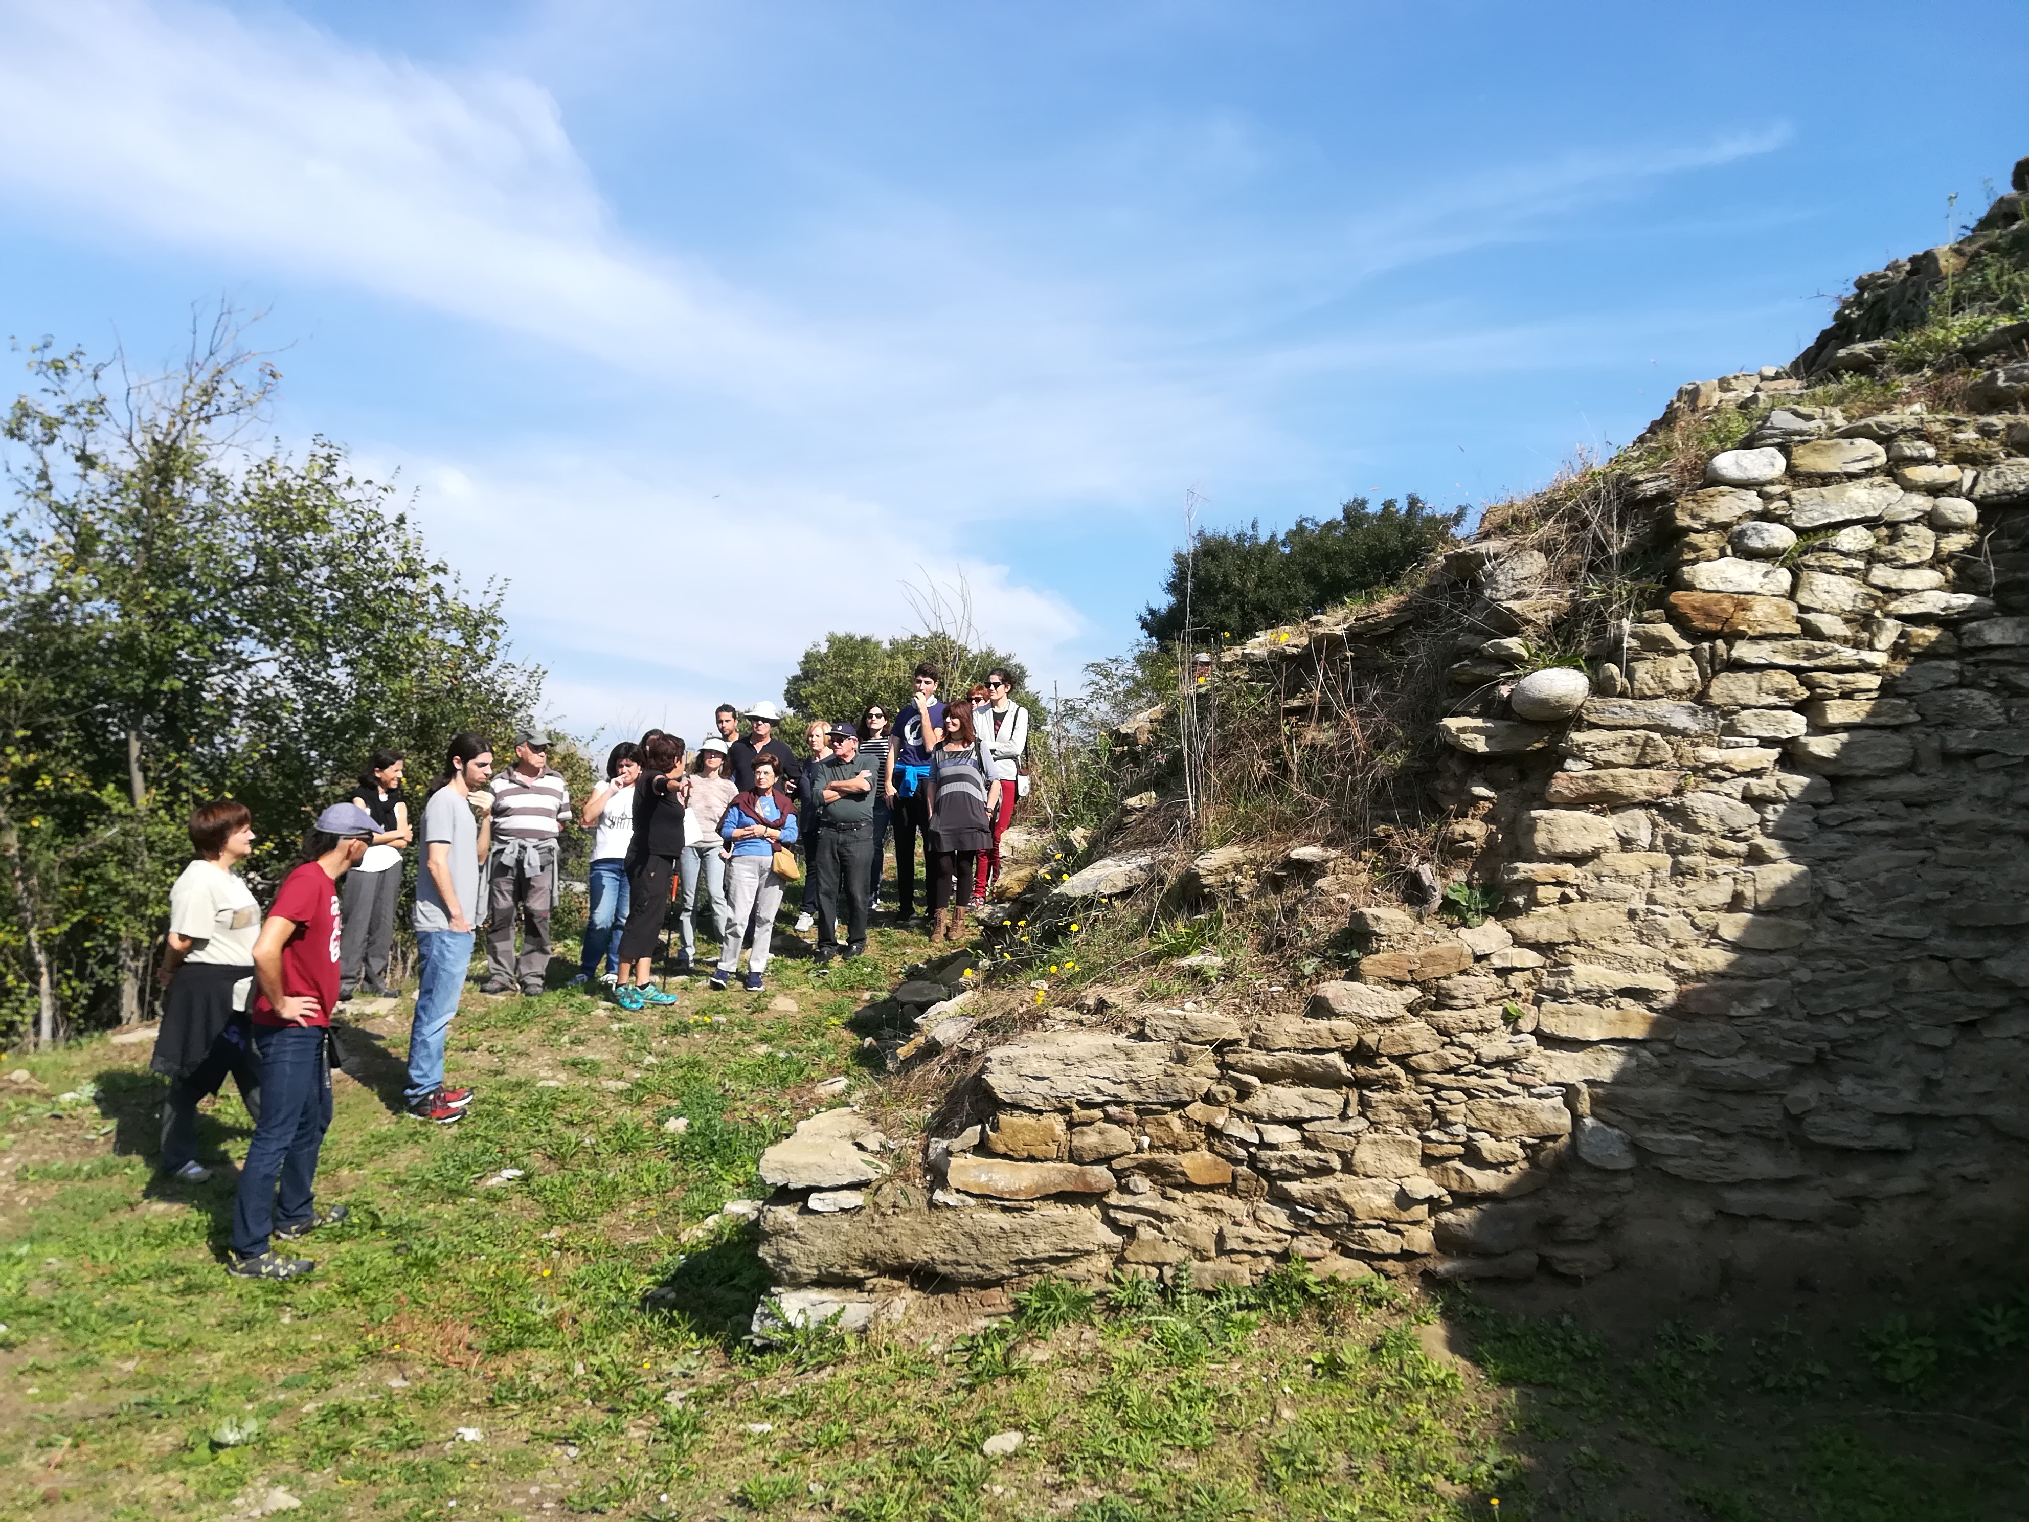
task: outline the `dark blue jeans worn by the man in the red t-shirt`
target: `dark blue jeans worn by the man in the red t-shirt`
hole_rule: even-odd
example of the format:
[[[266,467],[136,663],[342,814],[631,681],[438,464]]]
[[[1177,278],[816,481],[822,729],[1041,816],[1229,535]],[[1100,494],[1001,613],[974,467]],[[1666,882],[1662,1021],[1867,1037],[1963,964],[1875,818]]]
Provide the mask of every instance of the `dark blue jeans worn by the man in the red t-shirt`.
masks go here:
[[[314,1209],[317,1153],[331,1126],[331,1061],[321,1025],[254,1027],[260,1053],[260,1124],[239,1169],[233,1201],[233,1252],[256,1258],[268,1234],[310,1220]],[[276,1181],[282,1203],[276,1207]]]

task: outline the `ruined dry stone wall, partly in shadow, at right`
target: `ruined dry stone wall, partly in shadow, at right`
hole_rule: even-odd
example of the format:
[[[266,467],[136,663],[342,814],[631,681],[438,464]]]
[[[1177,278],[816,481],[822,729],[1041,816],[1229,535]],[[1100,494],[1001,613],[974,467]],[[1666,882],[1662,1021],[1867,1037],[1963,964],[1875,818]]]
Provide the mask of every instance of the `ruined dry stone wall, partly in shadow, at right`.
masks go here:
[[[1447,562],[1483,597],[1455,674],[1485,696],[1441,722],[1439,777],[1483,923],[1370,905],[1357,966],[1305,996],[1213,992],[1128,1031],[1065,1011],[984,1055],[923,1189],[842,1205],[879,1173],[864,1134],[806,1122],[765,1165],[777,1285],[864,1315],[903,1285],[1221,1285],[1299,1256],[1654,1299],[2017,1252],[2029,418],[1846,418],[1796,392],[1763,371],[1672,404],[1755,424],[1692,489],[1643,487],[1672,584],[1585,674],[1522,672],[1518,635],[1570,601],[1540,554]],[[1295,643],[1359,664],[1402,623]],[[1280,631],[1232,670],[1288,658]],[[1274,871],[1329,889],[1333,856]],[[1191,881],[1256,875],[1230,848]],[[958,1017],[925,1029],[962,1037]]]

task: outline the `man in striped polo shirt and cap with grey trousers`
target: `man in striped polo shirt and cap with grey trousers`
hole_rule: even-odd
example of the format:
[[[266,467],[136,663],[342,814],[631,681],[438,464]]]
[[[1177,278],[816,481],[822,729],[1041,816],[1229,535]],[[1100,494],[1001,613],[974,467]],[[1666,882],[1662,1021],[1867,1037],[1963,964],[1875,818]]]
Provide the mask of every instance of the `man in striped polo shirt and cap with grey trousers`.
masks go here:
[[[513,767],[493,779],[493,852],[487,858],[487,982],[483,992],[542,992],[550,966],[556,852],[570,818],[570,787],[550,767],[550,731],[513,737]],[[513,954],[515,909],[521,958]]]

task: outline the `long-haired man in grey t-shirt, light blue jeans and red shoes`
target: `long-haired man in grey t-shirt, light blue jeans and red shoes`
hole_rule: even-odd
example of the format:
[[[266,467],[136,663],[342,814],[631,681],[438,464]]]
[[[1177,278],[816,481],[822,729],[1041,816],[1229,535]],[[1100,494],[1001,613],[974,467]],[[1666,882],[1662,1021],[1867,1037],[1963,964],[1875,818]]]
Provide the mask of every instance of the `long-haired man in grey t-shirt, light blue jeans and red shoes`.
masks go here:
[[[408,1114],[448,1126],[465,1116],[469,1088],[444,1088],[444,1043],[473,962],[479,913],[479,858],[493,834],[473,816],[473,798],[491,808],[493,751],[479,735],[450,743],[446,775],[422,808],[422,871],[416,873],[416,1019],[408,1033]]]

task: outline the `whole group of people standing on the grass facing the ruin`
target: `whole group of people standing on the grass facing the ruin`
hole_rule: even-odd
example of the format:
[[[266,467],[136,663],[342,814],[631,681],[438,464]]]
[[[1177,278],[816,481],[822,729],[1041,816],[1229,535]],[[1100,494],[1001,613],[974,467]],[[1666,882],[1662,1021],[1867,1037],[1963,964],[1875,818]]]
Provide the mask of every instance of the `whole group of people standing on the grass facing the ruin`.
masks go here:
[[[592,830],[584,948],[572,982],[605,982],[627,1009],[674,1002],[653,976],[674,901],[678,972],[700,966],[698,911],[710,907],[714,990],[739,976],[743,950],[743,986],[763,990],[783,887],[806,873],[797,931],[816,925],[818,966],[860,956],[891,832],[895,923],[921,923],[921,842],[929,938],[964,936],[966,911],[998,875],[1000,838],[1027,791],[1029,714],[1012,700],[1004,670],[956,702],[937,698],[933,666],[917,666],[911,680],[899,712],[872,704],[852,724],[810,724],[803,757],[775,735],[781,714],[769,702],[745,712],[720,704],[716,733],[688,761],[680,737],[651,729],[613,747],[605,781],[578,808],[550,767],[548,731],[519,731],[513,763],[499,775],[483,735],[452,737],[420,826],[402,795],[406,757],[375,751],[353,795],[317,816],[266,917],[239,875],[254,848],[252,814],[231,800],[195,810],[195,856],[170,889],[152,1065],[170,1080],[162,1106],[170,1175],[209,1177],[197,1157],[197,1106],[225,1078],[254,1118],[227,1270],[308,1272],[314,1264],[278,1252],[276,1242],[294,1244],[345,1218],[343,1205],[314,1203],[337,1063],[331,1017],[359,990],[392,992],[402,862],[418,828],[418,982],[404,1110],[432,1124],[454,1124],[475,1096],[444,1084],[444,1049],[477,925],[487,925],[485,992],[546,986],[566,824]]]

